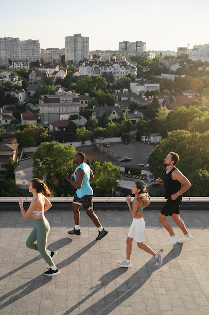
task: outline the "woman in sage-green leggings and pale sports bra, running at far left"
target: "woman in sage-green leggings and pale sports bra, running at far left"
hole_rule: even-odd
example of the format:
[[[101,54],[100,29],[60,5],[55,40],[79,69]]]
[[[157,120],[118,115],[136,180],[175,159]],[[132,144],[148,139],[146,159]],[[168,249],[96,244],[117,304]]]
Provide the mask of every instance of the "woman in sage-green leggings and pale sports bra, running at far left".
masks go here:
[[[21,213],[24,219],[28,219],[31,215],[35,220],[35,227],[26,241],[26,246],[39,251],[44,260],[49,264],[50,269],[44,274],[46,276],[58,275],[60,271],[53,263],[52,257],[56,252],[51,252],[46,249],[47,237],[50,231],[50,225],[44,213],[52,206],[47,197],[53,197],[53,194],[47,185],[38,178],[33,178],[29,186],[29,192],[33,194],[33,199],[27,211],[25,211],[23,203],[24,200],[19,200]],[[37,243],[35,243],[37,241]]]

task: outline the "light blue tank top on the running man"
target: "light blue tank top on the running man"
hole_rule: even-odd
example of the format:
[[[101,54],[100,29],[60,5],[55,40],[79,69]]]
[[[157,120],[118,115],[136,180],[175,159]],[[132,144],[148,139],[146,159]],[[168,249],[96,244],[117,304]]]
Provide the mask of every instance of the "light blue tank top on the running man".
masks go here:
[[[93,189],[90,186],[90,175],[91,175],[91,169],[88,164],[86,163],[81,163],[73,173],[73,177],[76,181],[76,171],[78,169],[82,169],[84,171],[84,178],[83,178],[83,184],[81,188],[76,190],[76,195],[81,198],[85,195],[90,195],[93,196],[94,192]]]

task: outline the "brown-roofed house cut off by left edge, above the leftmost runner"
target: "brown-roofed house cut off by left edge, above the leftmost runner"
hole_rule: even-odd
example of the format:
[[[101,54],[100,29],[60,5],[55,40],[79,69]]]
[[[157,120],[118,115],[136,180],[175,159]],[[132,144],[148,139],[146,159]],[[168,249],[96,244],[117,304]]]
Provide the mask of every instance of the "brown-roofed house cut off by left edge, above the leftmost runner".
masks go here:
[[[6,172],[10,157],[16,162],[18,146],[17,139],[3,140],[3,142],[0,142],[0,174]]]

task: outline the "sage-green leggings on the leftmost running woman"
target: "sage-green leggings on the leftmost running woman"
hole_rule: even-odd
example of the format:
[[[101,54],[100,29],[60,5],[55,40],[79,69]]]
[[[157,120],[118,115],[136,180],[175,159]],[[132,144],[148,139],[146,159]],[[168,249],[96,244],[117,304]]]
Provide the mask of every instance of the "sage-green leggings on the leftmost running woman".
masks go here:
[[[54,265],[51,256],[46,251],[47,237],[50,225],[46,217],[35,219],[35,227],[26,241],[26,246],[32,250],[39,251],[49,266]],[[35,242],[37,241],[37,244]]]

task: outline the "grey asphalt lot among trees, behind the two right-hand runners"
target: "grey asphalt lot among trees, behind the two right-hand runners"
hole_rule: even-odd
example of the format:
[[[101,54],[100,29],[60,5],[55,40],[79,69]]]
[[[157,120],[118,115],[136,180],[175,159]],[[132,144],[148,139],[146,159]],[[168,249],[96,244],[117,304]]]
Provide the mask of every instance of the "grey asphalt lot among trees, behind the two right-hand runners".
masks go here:
[[[131,162],[121,162],[121,164],[137,165],[138,163],[142,163],[146,165],[147,155],[154,148],[155,146],[152,144],[136,142],[134,139],[131,139],[129,144],[110,144],[110,147],[107,149],[114,151],[119,157],[131,157]]]

